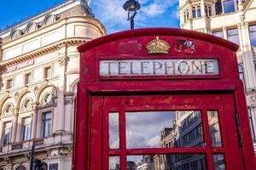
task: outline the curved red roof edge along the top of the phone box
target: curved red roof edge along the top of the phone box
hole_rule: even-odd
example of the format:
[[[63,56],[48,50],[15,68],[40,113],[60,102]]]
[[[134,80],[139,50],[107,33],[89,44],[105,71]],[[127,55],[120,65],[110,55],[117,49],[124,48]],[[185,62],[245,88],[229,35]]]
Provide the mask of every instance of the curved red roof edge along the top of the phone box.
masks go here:
[[[79,53],[83,53],[90,48],[95,48],[96,46],[102,45],[107,42],[113,42],[119,39],[127,38],[127,37],[141,37],[141,36],[173,36],[173,37],[189,37],[195,38],[204,42],[211,42],[214,44],[218,44],[224,48],[229,48],[230,50],[236,52],[239,46],[227,40],[224,40],[221,37],[215,37],[207,33],[202,33],[199,31],[190,31],[179,28],[162,28],[162,27],[154,27],[154,28],[141,28],[135,30],[128,31],[120,31],[117,33],[109,34],[104,37],[96,38],[90,42],[86,42],[83,45],[78,47]]]

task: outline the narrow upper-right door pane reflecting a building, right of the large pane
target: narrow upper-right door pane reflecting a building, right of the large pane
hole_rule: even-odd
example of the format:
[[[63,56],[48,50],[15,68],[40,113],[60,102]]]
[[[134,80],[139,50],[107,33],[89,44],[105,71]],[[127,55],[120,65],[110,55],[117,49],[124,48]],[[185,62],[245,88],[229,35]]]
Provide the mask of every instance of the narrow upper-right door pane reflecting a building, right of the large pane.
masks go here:
[[[207,111],[212,147],[221,147],[222,140],[219,130],[218,111]]]

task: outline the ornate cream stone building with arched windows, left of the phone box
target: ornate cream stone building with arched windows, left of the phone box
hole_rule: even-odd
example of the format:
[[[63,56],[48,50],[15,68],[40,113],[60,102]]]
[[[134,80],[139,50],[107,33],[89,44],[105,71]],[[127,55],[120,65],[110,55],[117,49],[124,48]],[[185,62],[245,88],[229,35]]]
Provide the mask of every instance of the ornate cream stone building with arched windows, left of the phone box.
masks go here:
[[[0,169],[70,170],[79,52],[106,34],[86,0],[67,0],[0,32]]]

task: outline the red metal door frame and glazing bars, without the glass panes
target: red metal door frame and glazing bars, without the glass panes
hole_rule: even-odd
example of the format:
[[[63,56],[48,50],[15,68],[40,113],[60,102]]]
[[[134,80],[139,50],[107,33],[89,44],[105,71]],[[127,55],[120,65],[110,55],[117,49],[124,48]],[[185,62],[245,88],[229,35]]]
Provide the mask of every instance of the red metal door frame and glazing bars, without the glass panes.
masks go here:
[[[190,96],[193,96],[191,94]],[[218,98],[216,98],[218,96]],[[196,98],[207,97],[208,100],[201,100]],[[114,99],[116,98],[116,99]],[[157,100],[155,99],[157,98]],[[177,95],[172,95],[172,101],[169,103],[172,105],[168,105],[166,103],[166,99],[168,100],[169,96],[125,96],[121,99],[128,103],[129,100],[132,102],[136,102],[136,107],[131,107],[131,105],[125,105],[120,107],[119,104],[116,104],[117,101],[120,100],[120,97],[105,97],[105,100],[108,100],[108,105],[116,105],[115,107],[104,107],[103,109],[103,137],[102,144],[104,145],[103,149],[103,157],[105,165],[104,169],[108,169],[108,156],[120,156],[121,157],[121,166],[125,166],[125,156],[128,155],[140,155],[140,154],[166,154],[166,153],[198,153],[205,154],[207,156],[208,169],[213,169],[212,163],[212,154],[214,153],[222,153],[225,156],[226,168],[228,169],[242,169],[242,159],[241,159],[241,150],[239,148],[239,141],[235,136],[231,134],[236,133],[236,122],[234,115],[234,105],[233,105],[233,97],[231,94],[222,94],[222,95],[197,95],[195,98],[178,97]],[[188,99],[189,103],[184,105],[180,105],[183,103],[183,99]],[[215,99],[215,100],[214,100]],[[221,102],[218,101],[221,100]],[[135,101],[136,100],[136,101]],[[142,101],[148,100],[147,103]],[[204,101],[204,104],[195,105],[197,102],[195,100]],[[152,105],[150,101],[154,102],[154,106],[144,105]],[[162,103],[165,101],[165,104]],[[161,104],[159,105],[158,102]],[[176,105],[176,103],[180,103]],[[210,102],[210,103],[209,103]],[[218,103],[219,102],[219,103]],[[222,105],[220,105],[222,103]],[[192,104],[192,105],[191,105]],[[217,105],[216,105],[217,104]],[[224,105],[230,105],[230,107],[226,107]],[[141,106],[138,106],[141,105]],[[155,106],[157,105],[157,106]],[[125,111],[201,111],[201,121],[204,133],[204,139],[207,146],[205,148],[157,148],[157,149],[136,149],[136,150],[127,150],[125,146]],[[218,111],[220,129],[222,134],[222,143],[223,147],[213,147],[211,146],[210,139],[210,131],[208,126],[208,118],[207,111]],[[120,127],[120,148],[119,150],[109,150],[108,149],[108,113],[109,112],[119,112],[119,125]],[[222,128],[224,125],[229,127],[229,132],[227,132],[227,128]],[[228,141],[230,139],[230,141]],[[229,152],[232,150],[232,152]],[[236,161],[234,162],[234,160]],[[233,162],[232,162],[233,161]],[[103,169],[103,168],[102,168]],[[125,167],[123,167],[125,169]]]

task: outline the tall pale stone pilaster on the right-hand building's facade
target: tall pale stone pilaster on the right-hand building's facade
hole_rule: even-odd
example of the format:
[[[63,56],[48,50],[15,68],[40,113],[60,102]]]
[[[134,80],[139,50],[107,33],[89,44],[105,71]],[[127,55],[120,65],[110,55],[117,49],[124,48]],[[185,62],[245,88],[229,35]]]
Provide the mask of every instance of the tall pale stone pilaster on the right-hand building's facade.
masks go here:
[[[244,18],[241,17],[241,20],[244,20]],[[242,52],[246,87],[249,89],[256,88],[256,75],[255,75],[255,67],[253,62],[251,42],[250,42],[249,32],[248,32],[248,23],[241,21],[241,23],[238,25],[238,29],[241,34],[239,35],[240,48]]]

